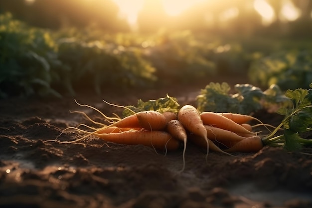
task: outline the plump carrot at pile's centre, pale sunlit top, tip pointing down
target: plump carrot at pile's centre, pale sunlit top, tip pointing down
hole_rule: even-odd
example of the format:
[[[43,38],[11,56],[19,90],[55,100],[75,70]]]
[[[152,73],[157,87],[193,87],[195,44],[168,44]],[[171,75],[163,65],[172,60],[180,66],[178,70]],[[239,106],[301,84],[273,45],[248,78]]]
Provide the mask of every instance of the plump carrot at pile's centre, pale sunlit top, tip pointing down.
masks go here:
[[[202,137],[206,141],[207,154],[206,160],[209,153],[209,141],[207,138],[207,130],[203,125],[200,118],[200,114],[197,109],[191,105],[184,105],[178,112],[178,120],[182,123],[186,130],[191,133]]]

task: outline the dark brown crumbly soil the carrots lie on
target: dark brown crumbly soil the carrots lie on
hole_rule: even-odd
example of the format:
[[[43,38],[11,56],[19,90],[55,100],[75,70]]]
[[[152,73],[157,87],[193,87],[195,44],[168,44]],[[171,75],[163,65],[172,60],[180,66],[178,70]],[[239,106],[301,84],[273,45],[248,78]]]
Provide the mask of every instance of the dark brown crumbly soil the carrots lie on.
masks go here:
[[[228,83],[243,80],[224,79]],[[80,92],[75,97],[8,98],[0,100],[0,207],[1,208],[312,208],[312,155],[265,147],[257,153],[228,156],[189,143],[186,167],[182,151],[163,153],[142,145],[121,145],[96,137],[78,143],[54,140],[66,127],[164,97],[195,104],[205,85],[158,90],[112,91],[102,96]],[[282,118],[267,111],[255,117],[276,125]],[[60,140],[75,140],[64,132]],[[305,152],[312,153],[311,148]]]

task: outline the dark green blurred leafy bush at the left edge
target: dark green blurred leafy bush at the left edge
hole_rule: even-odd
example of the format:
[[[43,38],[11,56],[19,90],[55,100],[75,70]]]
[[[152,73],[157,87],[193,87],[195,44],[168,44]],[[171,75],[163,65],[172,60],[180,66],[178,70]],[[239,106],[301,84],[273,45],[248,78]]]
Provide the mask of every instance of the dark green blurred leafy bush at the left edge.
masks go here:
[[[53,94],[53,67],[60,66],[48,32],[0,15],[0,95]]]

